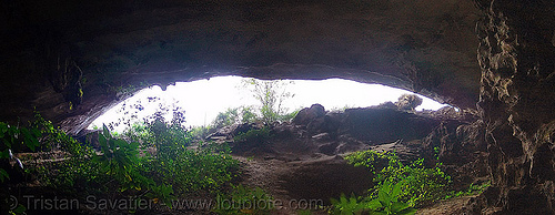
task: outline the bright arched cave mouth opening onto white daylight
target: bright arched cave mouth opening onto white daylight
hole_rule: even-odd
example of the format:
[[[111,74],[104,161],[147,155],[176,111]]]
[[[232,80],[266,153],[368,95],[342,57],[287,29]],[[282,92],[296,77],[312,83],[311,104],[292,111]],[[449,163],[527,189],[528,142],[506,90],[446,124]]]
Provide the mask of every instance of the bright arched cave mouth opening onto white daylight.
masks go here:
[[[172,112],[184,112],[186,126],[210,125],[219,113],[235,108],[250,106],[260,110],[254,88],[250,80],[269,82],[242,76],[215,76],[192,82],[176,82],[162,90],[158,85],[142,89],[97,117],[89,130],[112,124],[117,131],[123,130],[124,121],[140,122],[141,119],[165,110],[165,119]],[[345,79],[326,80],[273,80],[276,96],[284,96],[280,104],[284,113],[292,113],[312,104],[320,103],[326,110],[341,111],[347,108],[366,108],[384,102],[396,102],[410,91],[381,84],[367,84]],[[286,95],[285,95],[286,93]],[[416,94],[423,100],[416,111],[438,110],[447,106],[430,98]],[[260,114],[260,112],[259,112]]]

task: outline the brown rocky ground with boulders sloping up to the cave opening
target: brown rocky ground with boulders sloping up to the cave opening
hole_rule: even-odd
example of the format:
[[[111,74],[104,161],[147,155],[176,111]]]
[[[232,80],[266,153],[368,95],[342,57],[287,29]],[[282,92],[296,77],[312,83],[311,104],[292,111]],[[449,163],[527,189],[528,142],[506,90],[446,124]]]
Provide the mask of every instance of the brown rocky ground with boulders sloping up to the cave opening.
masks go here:
[[[234,156],[243,164],[242,183],[262,187],[283,203],[275,214],[296,214],[295,208],[325,214],[316,205],[297,203],[330,205],[330,198],[342,193],[363,195],[372,187],[373,175],[343,160],[361,150],[395,151],[402,160],[432,158],[438,153],[445,172],[453,176],[453,187],[458,190],[487,180],[480,122],[473,122],[472,113],[453,109],[415,113],[389,104],[330,113],[313,105],[292,122],[273,125],[263,144],[242,147],[233,141],[241,132],[261,126],[234,125],[210,137],[234,147]],[[443,201],[421,208],[418,214],[466,213],[472,198]]]

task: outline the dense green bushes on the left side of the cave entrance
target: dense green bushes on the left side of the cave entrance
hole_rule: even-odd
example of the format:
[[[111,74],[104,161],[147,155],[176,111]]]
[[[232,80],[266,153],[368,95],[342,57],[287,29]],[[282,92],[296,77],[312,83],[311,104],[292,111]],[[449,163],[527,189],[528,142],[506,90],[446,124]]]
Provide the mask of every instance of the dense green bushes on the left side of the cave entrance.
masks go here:
[[[46,187],[31,190],[33,194],[39,192],[46,196],[61,195],[81,201],[93,195],[110,199],[150,198],[167,205],[171,205],[174,197],[214,197],[239,174],[239,162],[231,157],[225,145],[188,147],[190,134],[179,122],[179,119],[172,122],[157,119],[144,126],[135,126],[133,131],[140,132],[134,135],[128,132],[128,135],[118,136],[104,126],[99,134],[101,152],[83,147],[82,143],[49,124],[39,130],[36,149],[46,152],[40,153],[41,161],[52,162],[30,162],[37,160],[21,157],[40,187]],[[57,145],[47,147],[50,143]],[[54,160],[53,156],[58,157]],[[16,197],[23,199],[22,196]]]

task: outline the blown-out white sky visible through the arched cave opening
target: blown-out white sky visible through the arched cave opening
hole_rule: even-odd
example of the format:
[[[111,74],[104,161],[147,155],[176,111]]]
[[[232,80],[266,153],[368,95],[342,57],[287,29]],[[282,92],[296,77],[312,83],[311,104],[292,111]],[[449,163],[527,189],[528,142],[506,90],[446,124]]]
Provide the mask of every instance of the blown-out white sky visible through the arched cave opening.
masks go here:
[[[165,91],[160,86],[151,86],[135,93],[125,100],[127,104],[140,103],[144,110],[138,111],[139,116],[151,115],[161,104],[176,105],[185,110],[188,125],[209,125],[219,112],[228,108],[241,105],[258,105],[252,93],[239,88],[240,76],[218,76],[210,80],[193,82],[178,82],[170,85]],[[286,86],[294,96],[284,101],[289,111],[307,108],[314,103],[322,104],[326,110],[349,108],[365,108],[377,105],[386,101],[396,102],[398,96],[408,91],[384,86],[380,84],[365,84],[342,79],[329,79],[323,81],[295,80]],[[158,96],[158,102],[148,102],[147,98]],[[428,98],[423,99],[422,105],[416,110],[437,110],[446,104],[440,104]],[[122,116],[118,110],[123,102],[98,117],[89,129],[94,125],[101,127],[102,123],[110,123]],[[129,109],[128,109],[129,111]],[[118,129],[117,129],[118,130]]]

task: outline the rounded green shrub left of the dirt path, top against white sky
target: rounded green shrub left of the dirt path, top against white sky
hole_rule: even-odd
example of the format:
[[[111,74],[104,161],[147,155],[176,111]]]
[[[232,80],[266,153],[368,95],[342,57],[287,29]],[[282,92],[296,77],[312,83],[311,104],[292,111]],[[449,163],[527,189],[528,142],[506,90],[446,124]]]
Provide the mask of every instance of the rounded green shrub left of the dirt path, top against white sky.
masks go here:
[[[154,147],[155,153],[147,158],[144,170],[157,181],[172,185],[175,193],[216,192],[236,176],[239,162],[226,145],[208,143],[189,149],[190,133],[180,122],[173,119],[167,123],[159,117],[145,125],[147,133],[140,141]]]

